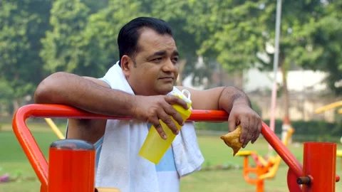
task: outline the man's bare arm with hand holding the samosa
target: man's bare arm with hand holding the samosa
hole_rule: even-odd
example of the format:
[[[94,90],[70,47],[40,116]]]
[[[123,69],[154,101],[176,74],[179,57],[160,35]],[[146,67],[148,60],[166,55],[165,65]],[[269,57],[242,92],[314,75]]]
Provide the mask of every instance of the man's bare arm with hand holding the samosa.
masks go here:
[[[229,131],[233,131],[241,124],[242,134],[240,142],[245,147],[249,141],[254,143],[261,132],[261,118],[252,110],[251,102],[242,90],[236,87],[216,87],[209,90],[192,90],[192,108],[194,110],[224,110],[229,113]]]

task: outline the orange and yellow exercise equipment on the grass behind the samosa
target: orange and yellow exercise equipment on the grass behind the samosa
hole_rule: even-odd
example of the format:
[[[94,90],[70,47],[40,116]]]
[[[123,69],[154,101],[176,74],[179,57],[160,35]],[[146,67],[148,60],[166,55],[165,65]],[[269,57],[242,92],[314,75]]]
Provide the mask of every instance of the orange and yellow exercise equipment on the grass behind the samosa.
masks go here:
[[[294,129],[290,127],[287,129],[286,137],[284,138],[283,144],[286,146],[294,133]],[[247,183],[254,184],[257,186],[257,192],[264,192],[264,180],[266,178],[274,178],[276,171],[279,169],[281,163],[281,156],[271,156],[266,161],[262,156],[258,156],[256,151],[239,151],[237,156],[244,156],[244,180]],[[254,159],[255,166],[249,166],[249,156]],[[255,174],[257,178],[250,178],[249,174]]]

